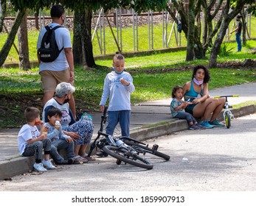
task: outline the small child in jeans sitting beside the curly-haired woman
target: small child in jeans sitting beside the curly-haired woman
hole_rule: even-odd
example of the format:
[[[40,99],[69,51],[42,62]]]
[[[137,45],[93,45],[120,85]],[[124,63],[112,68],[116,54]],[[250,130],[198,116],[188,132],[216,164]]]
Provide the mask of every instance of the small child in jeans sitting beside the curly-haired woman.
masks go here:
[[[186,113],[184,109],[187,107],[190,102],[184,102],[182,101],[183,97],[183,88],[180,86],[176,86],[173,88],[172,97],[173,100],[170,102],[170,111],[173,115],[173,118],[180,118],[180,119],[186,119],[187,124],[189,124],[190,129],[203,129],[198,122],[196,121],[196,118],[194,118],[190,113]]]

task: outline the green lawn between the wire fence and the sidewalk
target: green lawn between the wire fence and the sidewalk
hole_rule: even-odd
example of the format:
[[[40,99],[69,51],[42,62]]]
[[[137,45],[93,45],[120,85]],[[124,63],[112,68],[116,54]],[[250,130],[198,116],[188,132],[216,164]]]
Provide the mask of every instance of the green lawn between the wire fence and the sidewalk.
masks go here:
[[[181,71],[180,68],[193,65],[207,64],[207,60],[193,61],[184,63],[182,60],[185,55],[178,52],[181,60],[170,60],[175,56],[169,54],[154,54],[146,57],[126,58],[127,71],[131,72],[134,78],[135,92],[131,96],[131,102],[144,102],[154,99],[163,99],[170,96],[170,90],[175,85],[183,85],[191,78],[191,71]],[[241,52],[242,53],[242,52]],[[235,56],[236,55],[236,56]],[[236,60],[242,60],[242,57],[251,57],[251,54],[235,53],[232,54]],[[255,55],[254,55],[255,56]],[[155,65],[151,60],[157,60]],[[173,59],[173,58],[172,58]],[[220,61],[223,59],[221,58]],[[226,60],[231,59],[225,59]],[[161,63],[160,63],[161,62]],[[110,60],[97,61],[100,65],[111,65]],[[179,67],[178,67],[179,66]],[[170,68],[175,68],[174,71]],[[85,70],[81,67],[75,68],[75,86],[77,99],[82,99],[91,106],[100,102],[100,96],[103,91],[103,82],[109,69]],[[234,69],[234,68],[212,68],[210,69],[212,81],[210,89],[221,88],[224,86],[243,84],[255,81],[255,70]],[[21,71],[18,68],[2,68],[0,70],[0,93],[8,96],[18,94],[41,93],[41,81],[38,74],[38,68],[32,68],[30,71]]]

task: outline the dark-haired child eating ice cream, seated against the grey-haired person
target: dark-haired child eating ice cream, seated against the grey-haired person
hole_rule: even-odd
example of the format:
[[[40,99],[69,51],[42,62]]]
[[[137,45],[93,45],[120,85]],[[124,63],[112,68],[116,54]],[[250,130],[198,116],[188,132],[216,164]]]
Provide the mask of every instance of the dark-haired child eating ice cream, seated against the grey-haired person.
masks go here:
[[[60,164],[72,164],[74,163],[74,142],[71,137],[63,133],[60,120],[62,113],[58,108],[52,107],[46,114],[49,122],[44,124],[44,127],[48,127],[47,138],[52,141],[51,156],[55,160],[55,163]],[[68,160],[59,154],[60,149],[66,149],[66,156]]]

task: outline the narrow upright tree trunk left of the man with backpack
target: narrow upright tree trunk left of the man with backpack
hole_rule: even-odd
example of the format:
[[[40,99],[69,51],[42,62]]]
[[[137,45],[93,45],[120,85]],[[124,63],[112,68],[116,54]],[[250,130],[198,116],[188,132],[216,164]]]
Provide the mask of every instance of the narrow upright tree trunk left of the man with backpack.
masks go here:
[[[20,29],[18,29],[18,53],[19,68],[27,70],[30,67],[29,44],[27,39],[27,12],[22,18]]]

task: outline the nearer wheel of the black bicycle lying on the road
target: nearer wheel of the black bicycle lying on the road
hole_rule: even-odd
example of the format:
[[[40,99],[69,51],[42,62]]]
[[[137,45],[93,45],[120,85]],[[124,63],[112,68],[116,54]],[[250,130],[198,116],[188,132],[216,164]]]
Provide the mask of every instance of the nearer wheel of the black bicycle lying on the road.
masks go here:
[[[117,160],[121,160],[124,163],[128,163],[133,166],[141,167],[141,168],[153,168],[153,164],[145,160],[143,157],[139,157],[138,154],[133,154],[129,152],[127,149],[119,148],[117,146],[106,145],[103,147],[103,151],[110,156],[117,158]]]

